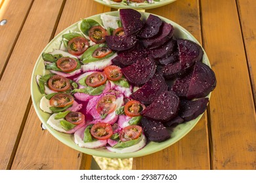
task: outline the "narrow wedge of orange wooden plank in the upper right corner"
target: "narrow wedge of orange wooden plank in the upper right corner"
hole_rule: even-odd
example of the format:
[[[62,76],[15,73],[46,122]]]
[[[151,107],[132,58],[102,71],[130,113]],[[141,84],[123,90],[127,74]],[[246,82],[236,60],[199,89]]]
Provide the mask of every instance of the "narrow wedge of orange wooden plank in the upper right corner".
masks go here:
[[[256,105],[256,1],[238,0],[238,10],[240,15],[240,24],[244,36],[245,52],[253,89],[254,104]],[[253,18],[254,17],[254,18]]]

